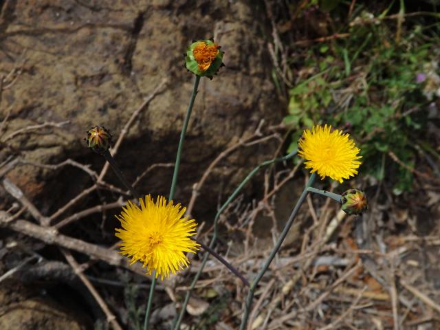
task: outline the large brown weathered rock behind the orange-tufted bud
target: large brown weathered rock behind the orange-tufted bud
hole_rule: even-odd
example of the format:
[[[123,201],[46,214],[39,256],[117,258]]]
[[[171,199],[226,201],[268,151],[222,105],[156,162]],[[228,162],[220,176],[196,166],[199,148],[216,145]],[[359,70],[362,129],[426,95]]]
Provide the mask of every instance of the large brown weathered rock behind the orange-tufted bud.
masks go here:
[[[271,83],[272,64],[259,36],[265,13],[254,1],[17,0],[3,1],[1,19],[0,72],[23,67],[14,85],[3,91],[0,121],[11,111],[3,137],[43,122],[69,124],[17,135],[1,145],[0,157],[17,152],[44,164],[72,158],[99,170],[103,159],[85,149],[85,131],[102,124],[117,137],[131,113],[168,78],[116,158],[129,179],[151,164],[173,162],[192,91],[193,76],[182,67],[183,54],[192,39],[211,36],[225,51],[226,68],[213,80],[201,79],[177,199],[185,201],[209,162],[255,131],[260,120],[278,124],[283,118]],[[215,173],[217,182],[234,184],[273,152],[269,143],[230,157]],[[171,173],[172,168],[159,168],[139,190],[167,194]],[[85,173],[72,167],[17,166],[9,177],[47,212],[90,184]],[[204,193],[206,200],[217,202],[218,192]]]

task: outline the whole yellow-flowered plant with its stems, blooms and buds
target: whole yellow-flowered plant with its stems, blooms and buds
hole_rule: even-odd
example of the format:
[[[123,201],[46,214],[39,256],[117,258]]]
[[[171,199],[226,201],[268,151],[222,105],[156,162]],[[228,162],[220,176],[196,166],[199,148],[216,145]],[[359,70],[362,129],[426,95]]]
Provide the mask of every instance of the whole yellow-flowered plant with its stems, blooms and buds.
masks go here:
[[[150,195],[139,195],[135,189],[130,186],[128,181],[122,175],[122,172],[118,168],[115,160],[111,156],[109,146],[111,144],[111,135],[107,129],[101,126],[96,126],[90,129],[87,133],[87,144],[89,147],[104,156],[118,175],[122,184],[131,191],[131,194],[139,202],[132,203],[128,201],[126,206],[122,209],[118,219],[120,220],[122,228],[116,228],[115,235],[122,239],[120,243],[121,253],[128,257],[131,257],[131,263],[140,261],[146,268],[146,274],[151,275],[151,288],[148,295],[148,302],[146,303],[146,311],[144,316],[143,329],[150,329],[148,323],[149,316],[151,314],[151,308],[153,303],[153,295],[155,292],[155,284],[158,277],[161,280],[168,278],[170,273],[176,274],[180,270],[190,265],[190,261],[186,254],[188,252],[197,253],[198,250],[205,250],[206,253],[203,256],[201,267],[195,275],[190,289],[186,293],[184,302],[181,305],[181,310],[175,321],[173,322],[173,329],[180,329],[181,321],[186,311],[186,305],[188,304],[191,290],[195,287],[203,267],[206,265],[209,254],[216,257],[223,265],[229,268],[244,285],[249,287],[248,297],[245,301],[245,310],[243,312],[243,318],[241,321],[240,329],[244,330],[248,324],[248,318],[250,314],[250,308],[253,303],[254,291],[258,287],[261,278],[263,278],[270,263],[272,263],[278,250],[280,250],[283,241],[285,240],[287,233],[289,232],[298,210],[305,201],[307,195],[311,193],[317,193],[338,201],[341,204],[342,210],[349,214],[360,214],[366,210],[366,197],[360,190],[351,189],[344,194],[337,195],[332,192],[326,192],[313,187],[316,175],[319,175],[321,179],[330,177],[336,181],[342,183],[344,179],[349,179],[358,174],[358,168],[361,164],[359,155],[360,149],[355,146],[355,143],[349,137],[349,134],[342,133],[338,129],[332,129],[331,126],[325,124],[325,126],[316,125],[310,129],[303,131],[300,140],[298,142],[298,148],[290,152],[285,157],[270,159],[263,162],[259,166],[256,166],[252,172],[245,177],[241,184],[234,190],[232,195],[225,201],[223,206],[217,212],[214,218],[214,235],[210,241],[210,245],[204,245],[197,239],[195,234],[197,230],[197,223],[194,219],[188,219],[185,216],[186,208],[182,207],[179,203],[173,202],[175,188],[177,185],[177,177],[179,164],[183,151],[183,144],[186,135],[186,129],[188,127],[188,121],[192,111],[195,98],[197,96],[197,88],[199,80],[206,76],[212,78],[217,70],[222,65],[223,52],[220,50],[220,46],[215,44],[212,40],[195,41],[188,47],[186,52],[186,67],[188,71],[195,74],[194,88],[190,97],[188,110],[184,120],[184,126],[181,129],[181,135],[179,140],[179,146],[177,148],[176,162],[173,173],[173,179],[171,181],[170,194],[168,200],[165,197],[157,197],[153,199]],[[219,254],[214,252],[214,244],[218,236],[218,219],[228,206],[228,204],[234,200],[239,194],[243,186],[264,166],[273,164],[274,162],[282,162],[287,159],[291,159],[296,155],[305,159],[305,167],[311,170],[309,181],[307,182],[302,195],[298,199],[296,205],[292,210],[285,227],[278,237],[272,252],[266,259],[261,270],[256,274],[256,277],[252,279],[252,283],[249,283],[243,275],[239,273],[232,265],[225,261]],[[131,292],[128,292],[131,294]],[[130,305],[131,318],[138,314],[135,306]],[[214,322],[215,314],[207,322]],[[133,321],[133,325],[136,328],[140,327],[140,322]],[[204,326],[207,326],[206,324]]]

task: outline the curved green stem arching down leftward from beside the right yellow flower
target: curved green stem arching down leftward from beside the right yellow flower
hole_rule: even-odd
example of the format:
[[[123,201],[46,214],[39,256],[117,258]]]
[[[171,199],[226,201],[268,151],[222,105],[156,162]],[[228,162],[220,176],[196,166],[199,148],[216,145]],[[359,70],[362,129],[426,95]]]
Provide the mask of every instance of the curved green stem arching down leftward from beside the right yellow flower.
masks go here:
[[[219,234],[218,232],[218,222],[219,222],[219,218],[220,215],[223,213],[223,211],[225,210],[225,208],[228,207],[228,205],[235,199],[235,197],[237,195],[239,195],[239,193],[241,192],[241,190],[243,189],[243,187],[245,186],[245,184],[247,184],[250,179],[252,179],[252,177],[263,167],[268,166],[270,164],[274,164],[276,162],[285,162],[288,159],[293,158],[296,153],[298,151],[295,150],[292,153],[289,153],[289,155],[285,155],[284,157],[279,157],[279,158],[275,158],[275,159],[270,159],[267,160],[261,164],[259,164],[259,166],[256,166],[249,174],[247,177],[245,177],[245,179],[243,179],[243,181],[241,181],[241,184],[239,184],[239,186],[234,190],[234,192],[232,192],[232,195],[230,195],[230,197],[228,197],[228,199],[225,201],[225,203],[223,203],[223,205],[221,206],[221,208],[219,208],[219,210],[217,211],[217,214],[215,214],[214,217],[214,234],[212,235],[212,239],[209,245],[209,248],[212,249],[214,248],[215,242],[217,241],[217,236]],[[181,305],[181,309],[180,309],[180,313],[178,318],[174,319],[173,322],[173,329],[174,330],[178,330],[180,327],[180,323],[181,320],[184,318],[185,315],[185,311],[186,311],[186,305],[188,305],[188,301],[190,300],[190,295],[192,290],[195,288],[195,285],[197,284],[197,281],[199,281],[199,277],[201,275],[201,272],[203,272],[203,268],[206,265],[206,262],[208,261],[208,257],[209,257],[209,253],[206,252],[205,254],[203,254],[203,261],[201,262],[201,266],[199,268],[199,271],[197,272],[197,274],[195,274],[194,278],[192,279],[190,288],[188,289],[188,291],[186,292],[186,296],[184,299],[184,303],[182,303]]]

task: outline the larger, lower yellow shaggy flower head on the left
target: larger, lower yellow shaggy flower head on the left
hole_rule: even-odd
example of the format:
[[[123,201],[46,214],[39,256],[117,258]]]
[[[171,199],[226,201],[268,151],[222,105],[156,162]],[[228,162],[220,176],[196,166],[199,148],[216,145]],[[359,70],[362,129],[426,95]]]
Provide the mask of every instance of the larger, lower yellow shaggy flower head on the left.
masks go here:
[[[129,201],[116,216],[122,228],[115,235],[122,239],[121,253],[131,257],[131,264],[142,261],[148,274],[155,270],[156,278],[160,275],[163,280],[170,272],[188,267],[185,252],[199,250],[199,244],[190,239],[197,223],[183,217],[186,208],[167,203],[165,197],[157,197],[156,202],[150,195],[139,200],[140,208]]]

